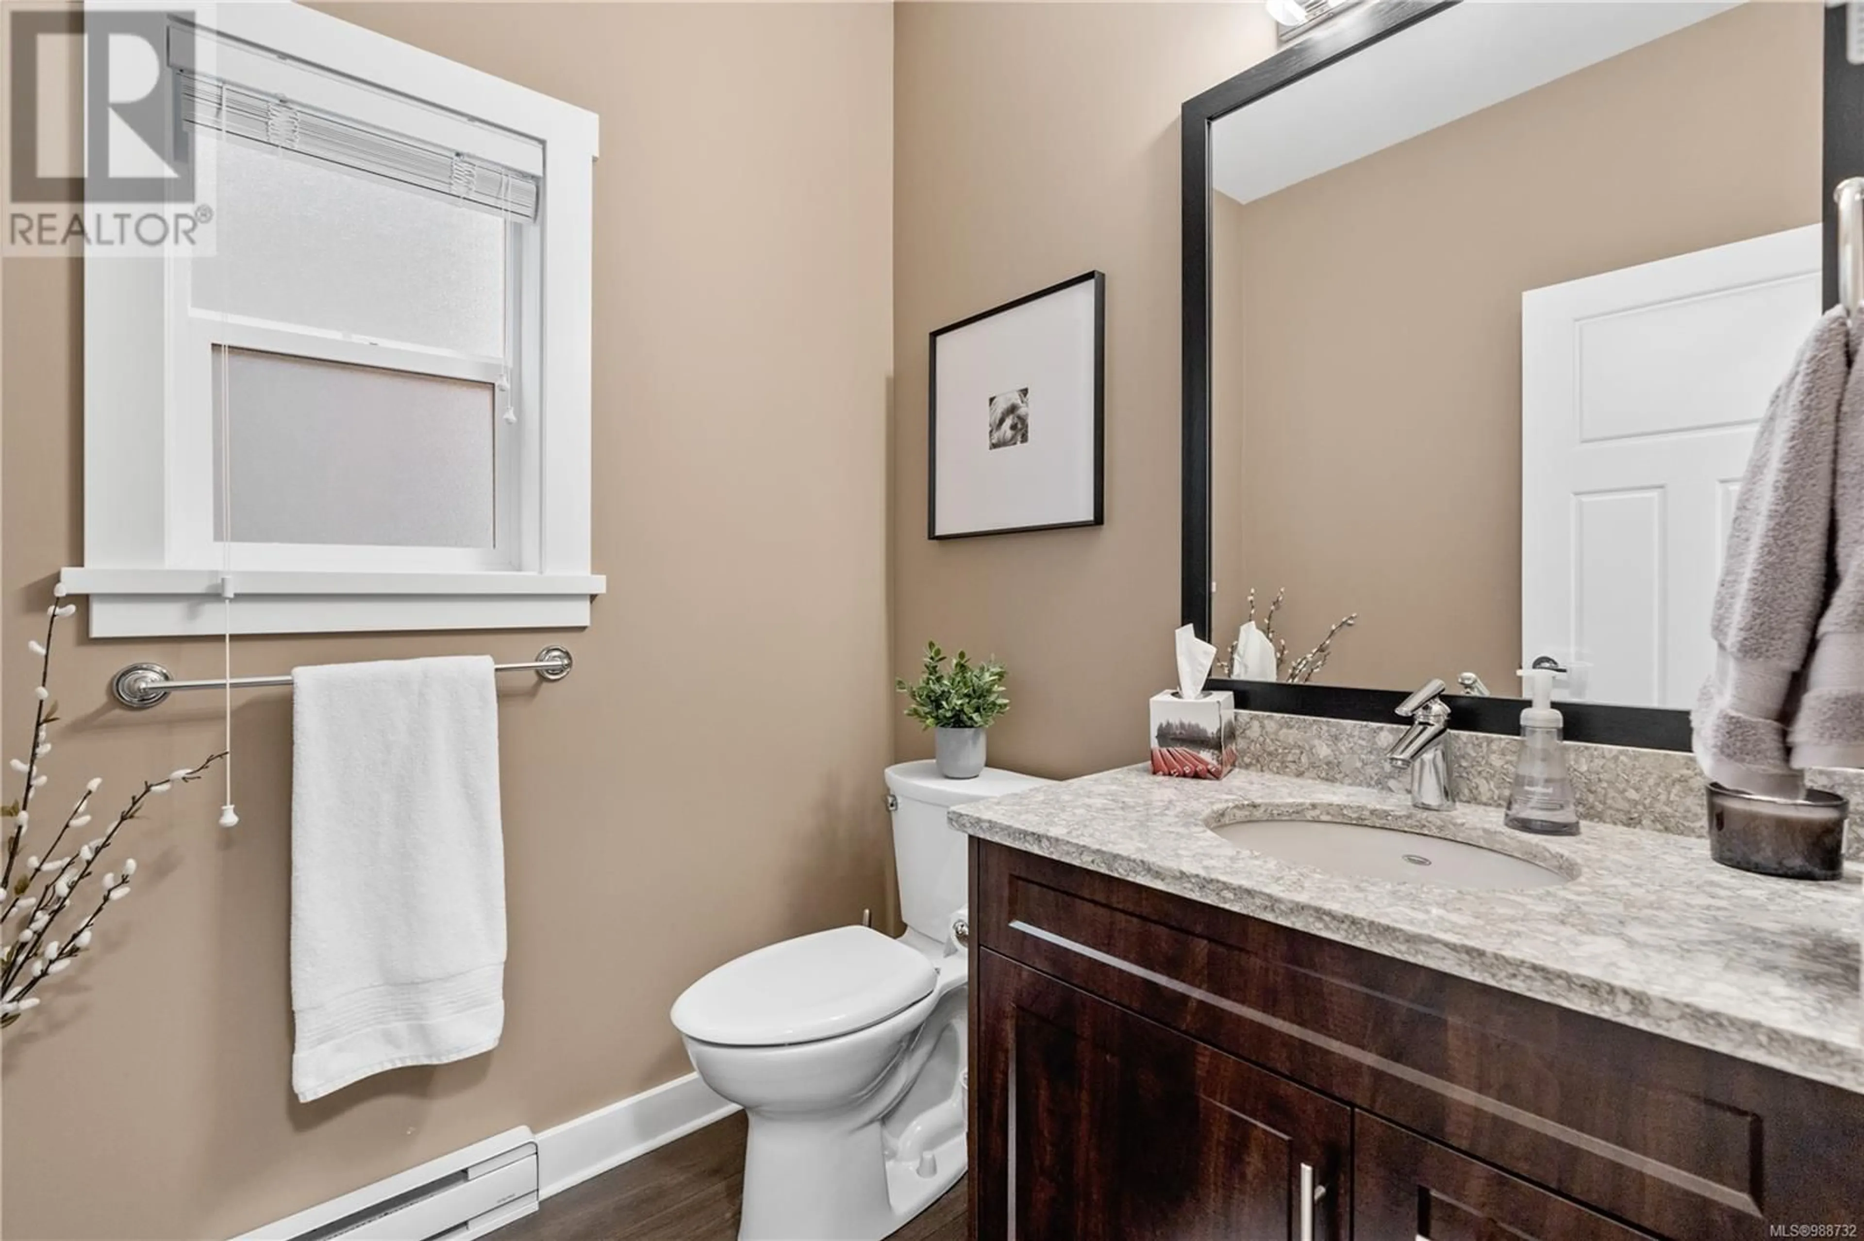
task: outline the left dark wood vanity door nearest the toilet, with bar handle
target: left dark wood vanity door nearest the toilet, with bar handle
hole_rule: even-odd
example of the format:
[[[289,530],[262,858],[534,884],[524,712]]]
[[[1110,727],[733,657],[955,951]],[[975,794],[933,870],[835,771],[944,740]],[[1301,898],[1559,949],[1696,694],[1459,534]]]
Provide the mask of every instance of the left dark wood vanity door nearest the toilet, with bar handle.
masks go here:
[[[979,958],[980,1241],[1344,1241],[1348,1107]]]

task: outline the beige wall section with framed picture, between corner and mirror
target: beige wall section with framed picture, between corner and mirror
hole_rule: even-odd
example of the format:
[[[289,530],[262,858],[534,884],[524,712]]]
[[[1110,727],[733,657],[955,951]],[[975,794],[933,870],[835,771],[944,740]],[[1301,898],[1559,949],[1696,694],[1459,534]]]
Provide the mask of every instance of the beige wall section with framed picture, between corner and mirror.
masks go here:
[[[895,15],[893,667],[995,652],[990,760],[1144,757],[1178,624],[1178,108],[1273,47],[1256,4],[902,4]],[[1107,524],[928,542],[926,334],[1107,274]],[[910,719],[900,757],[930,753]]]

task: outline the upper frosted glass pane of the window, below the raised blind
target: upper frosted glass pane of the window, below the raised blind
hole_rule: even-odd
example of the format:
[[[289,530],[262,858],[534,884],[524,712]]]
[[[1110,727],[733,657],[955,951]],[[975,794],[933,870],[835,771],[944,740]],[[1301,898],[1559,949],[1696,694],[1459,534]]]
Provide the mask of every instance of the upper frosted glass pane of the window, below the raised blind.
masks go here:
[[[194,304],[384,341],[505,356],[505,220],[242,142],[211,147],[216,257]]]

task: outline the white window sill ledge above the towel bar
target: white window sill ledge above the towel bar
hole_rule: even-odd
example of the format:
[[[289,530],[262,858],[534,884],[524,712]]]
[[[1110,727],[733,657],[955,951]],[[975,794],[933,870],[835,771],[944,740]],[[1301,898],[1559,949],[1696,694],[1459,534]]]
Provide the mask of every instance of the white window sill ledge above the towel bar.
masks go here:
[[[67,568],[89,596],[91,637],[220,634],[220,572],[209,568]],[[557,630],[589,624],[600,574],[235,572],[235,634],[390,630]]]

